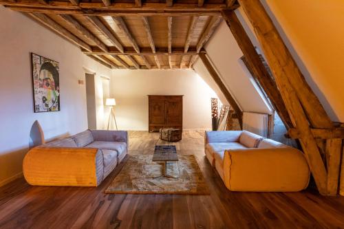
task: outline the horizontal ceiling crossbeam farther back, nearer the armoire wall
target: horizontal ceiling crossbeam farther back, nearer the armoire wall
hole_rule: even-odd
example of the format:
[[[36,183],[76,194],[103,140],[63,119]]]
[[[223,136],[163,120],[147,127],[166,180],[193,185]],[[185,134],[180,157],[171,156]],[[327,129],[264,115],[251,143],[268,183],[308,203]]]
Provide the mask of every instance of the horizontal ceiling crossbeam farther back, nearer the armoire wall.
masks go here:
[[[199,53],[205,53],[205,50],[200,50],[200,52],[197,52],[196,50],[192,49],[188,52],[184,52],[184,48],[182,47],[175,47],[173,48],[172,52],[169,53],[169,50],[166,48],[158,47],[155,49],[155,52],[152,52],[150,47],[140,47],[140,53],[137,53],[133,48],[131,47],[125,47],[124,52],[118,51],[115,47],[107,47],[109,52],[103,52],[100,50],[99,47],[92,46],[92,51],[83,51],[87,54],[111,54],[111,55],[138,55],[138,56],[152,56],[152,55],[176,55],[176,56],[189,56],[189,55],[197,55]]]

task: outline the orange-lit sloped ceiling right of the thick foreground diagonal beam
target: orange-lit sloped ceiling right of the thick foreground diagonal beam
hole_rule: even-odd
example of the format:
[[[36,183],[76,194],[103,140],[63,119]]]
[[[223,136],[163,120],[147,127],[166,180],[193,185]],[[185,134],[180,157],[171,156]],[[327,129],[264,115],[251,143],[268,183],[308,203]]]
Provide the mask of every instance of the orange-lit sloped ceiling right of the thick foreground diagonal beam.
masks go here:
[[[327,114],[344,122],[344,1],[261,2]]]

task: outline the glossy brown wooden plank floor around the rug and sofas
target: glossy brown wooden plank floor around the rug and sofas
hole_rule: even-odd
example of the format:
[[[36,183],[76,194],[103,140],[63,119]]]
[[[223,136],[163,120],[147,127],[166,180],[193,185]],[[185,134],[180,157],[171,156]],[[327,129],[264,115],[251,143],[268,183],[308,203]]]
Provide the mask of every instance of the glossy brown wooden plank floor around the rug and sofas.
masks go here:
[[[153,153],[158,133],[130,133],[129,154]],[[96,188],[0,188],[0,228],[344,228],[344,198],[235,193],[204,157],[203,131],[184,131],[178,153],[195,154],[211,195],[107,195],[123,162]]]

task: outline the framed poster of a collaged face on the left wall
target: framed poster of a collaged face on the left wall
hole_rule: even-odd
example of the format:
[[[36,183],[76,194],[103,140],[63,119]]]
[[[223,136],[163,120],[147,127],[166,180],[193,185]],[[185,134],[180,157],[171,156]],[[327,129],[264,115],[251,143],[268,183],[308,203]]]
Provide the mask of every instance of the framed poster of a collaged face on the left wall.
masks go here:
[[[31,53],[34,112],[60,111],[59,64]]]

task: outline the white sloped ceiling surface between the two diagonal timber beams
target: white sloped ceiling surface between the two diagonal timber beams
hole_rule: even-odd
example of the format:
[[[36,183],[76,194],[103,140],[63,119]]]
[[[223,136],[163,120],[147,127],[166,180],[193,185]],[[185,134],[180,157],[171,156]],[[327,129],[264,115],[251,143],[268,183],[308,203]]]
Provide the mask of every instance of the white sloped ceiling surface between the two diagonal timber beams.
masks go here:
[[[217,74],[243,111],[271,112],[250,72],[240,60],[243,54],[224,21],[207,43],[205,50]],[[207,77],[202,67],[203,63],[200,62],[202,61],[199,58],[194,65],[195,71],[202,77]]]

